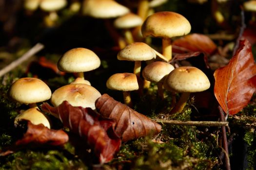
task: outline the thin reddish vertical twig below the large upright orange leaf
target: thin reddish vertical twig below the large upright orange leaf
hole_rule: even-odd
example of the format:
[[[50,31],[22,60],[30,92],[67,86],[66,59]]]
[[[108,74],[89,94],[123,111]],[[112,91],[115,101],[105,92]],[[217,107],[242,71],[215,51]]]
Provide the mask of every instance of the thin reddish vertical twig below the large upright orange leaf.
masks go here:
[[[223,109],[220,106],[218,106],[218,110],[219,110],[219,115],[220,115],[220,121],[226,122]],[[223,145],[223,149],[225,150],[226,170],[231,170],[230,161],[229,161],[229,152],[228,152],[228,140],[227,140],[225,126],[221,127],[221,132],[222,132],[222,145]]]

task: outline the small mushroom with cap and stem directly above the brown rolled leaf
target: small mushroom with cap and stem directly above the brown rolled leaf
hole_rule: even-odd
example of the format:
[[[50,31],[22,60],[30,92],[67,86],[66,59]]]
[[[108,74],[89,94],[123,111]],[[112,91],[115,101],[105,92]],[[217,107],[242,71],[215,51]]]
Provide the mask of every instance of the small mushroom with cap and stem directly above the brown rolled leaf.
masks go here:
[[[130,91],[139,89],[140,79],[133,73],[116,73],[107,80],[107,87],[112,90],[120,90],[123,92],[124,103],[132,107]]]

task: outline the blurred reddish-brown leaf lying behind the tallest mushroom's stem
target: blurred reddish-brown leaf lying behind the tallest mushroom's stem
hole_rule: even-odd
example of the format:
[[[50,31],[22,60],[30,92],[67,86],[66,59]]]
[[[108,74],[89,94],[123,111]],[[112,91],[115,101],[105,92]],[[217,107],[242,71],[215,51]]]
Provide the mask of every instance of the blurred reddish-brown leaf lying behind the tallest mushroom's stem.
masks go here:
[[[188,34],[173,42],[173,52],[205,52],[213,54],[217,50],[216,44],[204,34]]]

